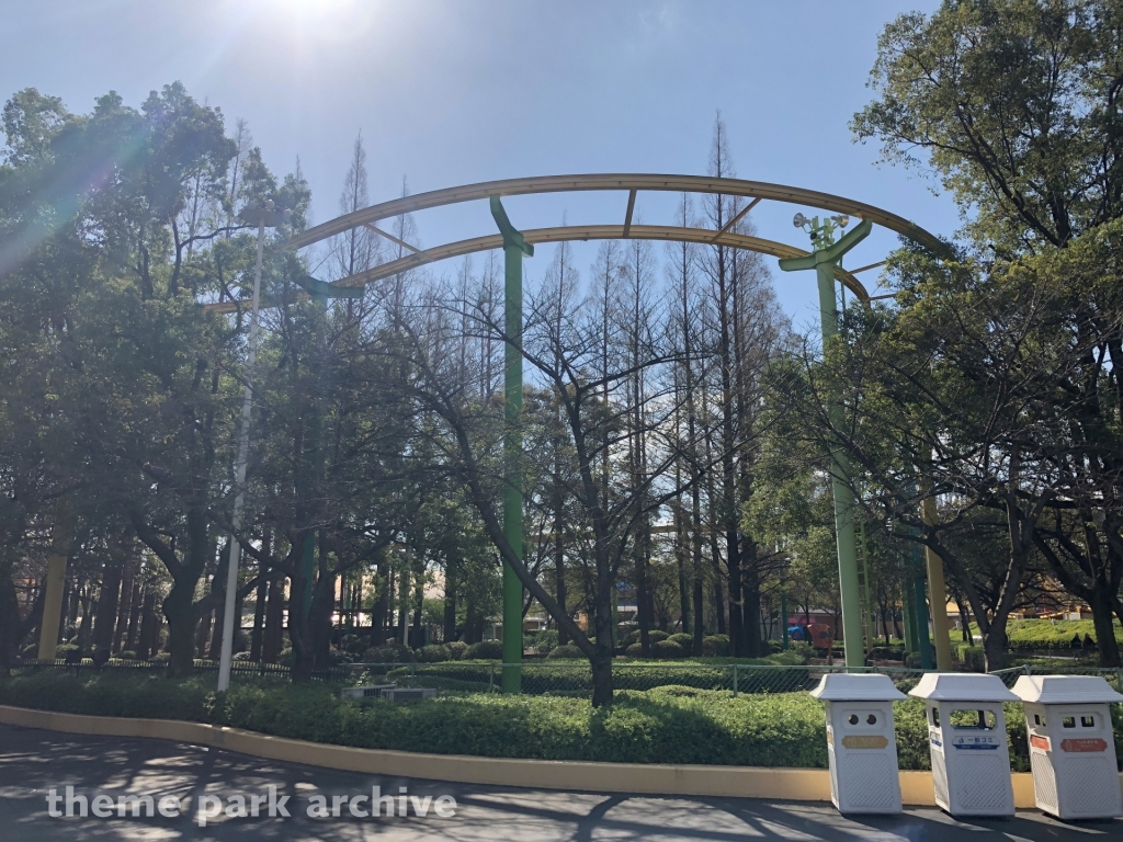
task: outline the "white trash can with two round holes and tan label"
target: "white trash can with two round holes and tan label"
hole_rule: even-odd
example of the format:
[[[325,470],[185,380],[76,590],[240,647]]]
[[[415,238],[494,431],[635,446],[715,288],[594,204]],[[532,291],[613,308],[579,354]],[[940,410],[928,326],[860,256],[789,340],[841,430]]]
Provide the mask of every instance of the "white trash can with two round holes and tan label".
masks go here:
[[[840,813],[900,813],[901,778],[893,703],[905,695],[888,676],[834,672],[811,695],[825,703],[831,800]]]

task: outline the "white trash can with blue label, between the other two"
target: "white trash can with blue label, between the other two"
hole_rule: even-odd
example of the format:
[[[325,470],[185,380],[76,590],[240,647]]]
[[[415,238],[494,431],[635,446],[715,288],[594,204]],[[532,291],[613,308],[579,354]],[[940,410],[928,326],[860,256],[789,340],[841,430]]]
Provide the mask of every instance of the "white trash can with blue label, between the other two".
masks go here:
[[[928,672],[909,692],[925,701],[935,803],[953,816],[1012,816],[1003,702],[1016,702],[997,676]]]

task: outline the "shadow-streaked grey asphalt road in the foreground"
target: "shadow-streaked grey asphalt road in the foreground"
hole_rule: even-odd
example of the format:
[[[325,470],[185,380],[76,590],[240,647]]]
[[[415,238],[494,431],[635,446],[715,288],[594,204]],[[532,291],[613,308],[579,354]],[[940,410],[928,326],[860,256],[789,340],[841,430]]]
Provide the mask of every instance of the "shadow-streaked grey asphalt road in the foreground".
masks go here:
[[[104,795],[110,817],[77,815],[51,817],[51,788],[75,798]],[[268,787],[290,817],[280,811],[268,817]],[[349,814],[366,813],[372,788],[390,794],[395,811],[403,795],[409,815],[402,817]],[[122,794],[154,796],[157,814],[117,816]],[[241,796],[246,812],[258,796],[257,817],[214,816],[199,824],[200,807],[217,813],[229,807],[237,813]],[[309,808],[322,797],[330,814],[309,817]],[[365,800],[363,799],[365,796]],[[455,799],[454,808],[447,799]],[[348,800],[343,800],[343,798]],[[221,802],[219,800],[221,798]],[[354,803],[351,799],[355,799]],[[427,800],[428,799],[428,800]],[[100,804],[107,812],[107,802]],[[173,806],[174,805],[174,806]],[[55,803],[65,812],[65,797]],[[176,817],[162,817],[158,809],[181,809]],[[437,815],[438,807],[446,817]],[[127,807],[127,813],[131,807]],[[146,809],[145,806],[140,807]],[[313,807],[314,809],[314,807]],[[382,807],[386,809],[385,803]],[[416,815],[424,812],[426,815]],[[1104,842],[1123,839],[1123,820],[1067,825],[1037,812],[1013,820],[957,822],[938,809],[910,809],[897,817],[844,818],[829,804],[761,802],[750,798],[663,798],[591,793],[557,793],[506,787],[468,786],[412,780],[389,776],[338,772],[295,763],[275,763],[244,754],[161,740],[74,736],[48,731],[0,725],[0,841],[2,842],[164,842],[165,840],[270,840],[271,842],[358,842],[380,840],[447,840],[485,842],[526,840],[876,840],[877,842],[987,842],[988,840],[1056,840]]]

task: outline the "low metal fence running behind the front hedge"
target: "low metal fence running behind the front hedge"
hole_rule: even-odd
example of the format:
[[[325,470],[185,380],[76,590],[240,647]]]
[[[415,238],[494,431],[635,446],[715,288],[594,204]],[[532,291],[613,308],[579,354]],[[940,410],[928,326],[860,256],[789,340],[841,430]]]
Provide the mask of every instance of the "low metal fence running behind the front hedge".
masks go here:
[[[75,669],[62,659],[56,661],[25,661],[24,670]],[[167,668],[166,661],[122,661],[113,659],[103,669],[158,672]],[[86,659],[81,671],[94,670]],[[549,661],[500,663],[497,661],[441,661],[437,663],[340,663],[327,670],[316,670],[313,678],[351,686],[393,683],[401,687],[433,687],[444,693],[499,693],[503,672],[520,672],[522,693],[532,696],[586,697],[593,690],[593,672],[586,661]],[[218,662],[197,660],[195,670],[218,671]],[[763,666],[750,663],[665,663],[615,662],[612,665],[612,684],[617,690],[651,690],[684,688],[687,690],[723,690],[732,696],[775,693],[805,693],[814,689],[820,679],[830,672],[846,672],[846,666]],[[902,667],[866,667],[849,671],[887,675],[896,687],[907,693],[923,669]],[[234,661],[235,678],[266,677],[287,679],[292,670],[287,665]],[[1123,669],[1094,667],[1025,666],[992,672],[1012,687],[1023,675],[1101,675],[1108,684],[1123,692]]]

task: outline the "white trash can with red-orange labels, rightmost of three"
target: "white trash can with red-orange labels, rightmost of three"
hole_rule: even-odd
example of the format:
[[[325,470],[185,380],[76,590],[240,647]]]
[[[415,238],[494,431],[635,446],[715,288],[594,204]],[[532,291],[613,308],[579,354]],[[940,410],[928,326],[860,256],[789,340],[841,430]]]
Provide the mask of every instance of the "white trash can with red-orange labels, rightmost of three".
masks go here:
[[[1030,770],[1038,808],[1058,818],[1123,815],[1107,705],[1123,702],[1099,676],[1022,676]]]

